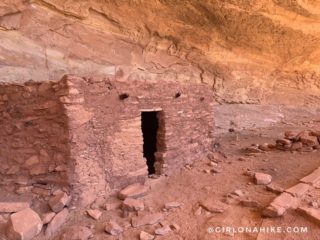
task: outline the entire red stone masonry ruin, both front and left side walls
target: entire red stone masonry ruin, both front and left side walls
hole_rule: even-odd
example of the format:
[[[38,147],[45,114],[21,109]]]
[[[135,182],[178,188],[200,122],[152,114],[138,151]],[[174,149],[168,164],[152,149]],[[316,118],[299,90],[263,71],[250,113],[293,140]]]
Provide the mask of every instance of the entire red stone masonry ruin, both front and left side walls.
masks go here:
[[[213,95],[203,84],[67,75],[4,83],[0,93],[1,185],[55,184],[79,206],[144,184],[140,109],[162,108],[156,174],[204,156],[214,140]]]

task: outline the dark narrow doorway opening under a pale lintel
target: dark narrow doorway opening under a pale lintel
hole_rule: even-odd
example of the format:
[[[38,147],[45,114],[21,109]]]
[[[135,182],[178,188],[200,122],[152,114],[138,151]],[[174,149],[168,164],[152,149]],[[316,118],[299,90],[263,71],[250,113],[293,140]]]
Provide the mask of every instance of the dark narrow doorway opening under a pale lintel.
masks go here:
[[[157,130],[159,128],[157,112],[141,112],[141,130],[143,137],[143,156],[147,159],[148,173],[155,173],[155,152],[157,151]]]

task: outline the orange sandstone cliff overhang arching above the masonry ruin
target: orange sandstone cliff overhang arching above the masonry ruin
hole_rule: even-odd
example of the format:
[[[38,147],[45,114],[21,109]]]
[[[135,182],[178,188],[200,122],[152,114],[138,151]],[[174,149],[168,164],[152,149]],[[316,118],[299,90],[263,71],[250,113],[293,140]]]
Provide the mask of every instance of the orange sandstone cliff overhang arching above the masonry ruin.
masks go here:
[[[320,105],[318,0],[2,0],[0,81],[210,84],[217,103]]]

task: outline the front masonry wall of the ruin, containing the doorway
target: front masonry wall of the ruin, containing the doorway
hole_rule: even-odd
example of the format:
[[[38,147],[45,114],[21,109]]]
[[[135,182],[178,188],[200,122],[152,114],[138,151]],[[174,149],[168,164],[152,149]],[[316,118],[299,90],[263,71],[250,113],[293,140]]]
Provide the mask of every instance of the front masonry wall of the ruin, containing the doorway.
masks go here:
[[[64,82],[79,92],[62,102],[75,143],[70,155],[80,177],[74,193],[84,205],[144,183],[148,172],[140,109],[163,109],[157,113],[157,174],[170,175],[212,146],[213,99],[206,85],[75,76],[65,76]],[[181,96],[175,98],[177,92]],[[120,100],[121,93],[129,97]]]

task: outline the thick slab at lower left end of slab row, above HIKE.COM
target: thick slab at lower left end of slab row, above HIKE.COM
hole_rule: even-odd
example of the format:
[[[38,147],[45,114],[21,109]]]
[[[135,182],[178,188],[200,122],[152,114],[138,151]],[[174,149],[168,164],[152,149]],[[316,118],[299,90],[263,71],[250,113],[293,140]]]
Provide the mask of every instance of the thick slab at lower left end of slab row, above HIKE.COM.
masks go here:
[[[261,213],[265,217],[275,218],[281,216],[290,207],[293,196],[282,193],[277,196]]]

